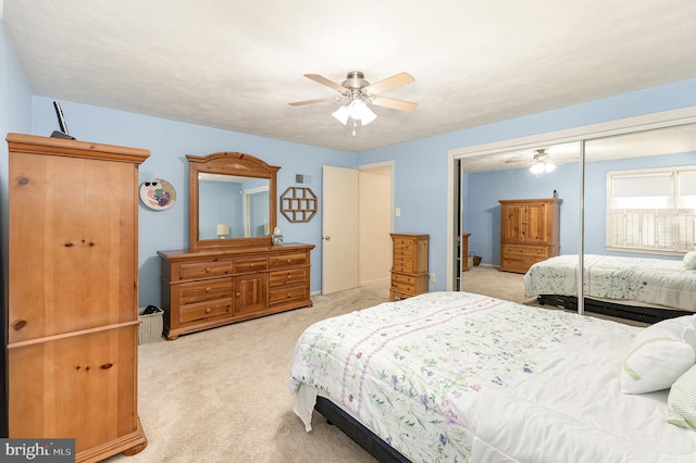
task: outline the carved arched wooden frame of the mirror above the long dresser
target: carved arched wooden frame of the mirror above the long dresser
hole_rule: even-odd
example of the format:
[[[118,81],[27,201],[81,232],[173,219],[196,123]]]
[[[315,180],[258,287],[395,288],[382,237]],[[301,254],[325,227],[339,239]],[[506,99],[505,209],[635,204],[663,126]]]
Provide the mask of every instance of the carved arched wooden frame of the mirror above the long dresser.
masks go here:
[[[278,166],[266,164],[251,154],[240,152],[216,152],[204,157],[186,154],[188,159],[188,246],[196,250],[224,250],[250,246],[272,246],[271,235],[262,237],[199,239],[199,174],[217,174],[269,179],[269,230],[276,226],[276,174]]]

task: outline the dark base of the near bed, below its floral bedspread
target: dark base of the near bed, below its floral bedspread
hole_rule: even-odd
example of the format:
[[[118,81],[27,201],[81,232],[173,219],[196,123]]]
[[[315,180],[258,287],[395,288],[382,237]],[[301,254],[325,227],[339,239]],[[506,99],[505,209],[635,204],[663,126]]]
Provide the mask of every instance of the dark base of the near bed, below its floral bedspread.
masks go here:
[[[376,434],[360,424],[344,410],[323,397],[316,398],[314,410],[326,418],[328,424],[336,426],[346,436],[355,440],[368,453],[382,463],[410,463],[411,461],[399,453],[394,447],[380,439]]]

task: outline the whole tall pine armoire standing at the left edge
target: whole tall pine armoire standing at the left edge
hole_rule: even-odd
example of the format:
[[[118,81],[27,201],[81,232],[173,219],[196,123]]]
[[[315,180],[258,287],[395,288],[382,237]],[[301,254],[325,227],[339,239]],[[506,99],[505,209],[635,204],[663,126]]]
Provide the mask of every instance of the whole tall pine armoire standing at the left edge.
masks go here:
[[[147,446],[138,418],[144,149],[8,134],[10,438],[77,462]]]

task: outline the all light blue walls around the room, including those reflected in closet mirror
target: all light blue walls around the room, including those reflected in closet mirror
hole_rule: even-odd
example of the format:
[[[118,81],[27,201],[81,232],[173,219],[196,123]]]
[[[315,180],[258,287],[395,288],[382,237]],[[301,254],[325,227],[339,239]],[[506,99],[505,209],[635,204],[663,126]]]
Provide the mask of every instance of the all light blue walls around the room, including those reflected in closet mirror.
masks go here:
[[[0,129],[24,132],[35,135],[50,135],[58,128],[52,108],[52,98],[30,96],[26,78],[9,42],[4,28],[0,35],[2,51],[2,80],[0,96],[2,109],[9,101],[9,114],[0,117]],[[7,70],[7,71],[4,71]],[[8,77],[10,76],[10,77]],[[456,148],[499,141],[550,130],[594,124],[622,117],[635,116],[676,108],[696,105],[696,79],[655,87],[642,91],[592,101],[556,111],[532,114],[510,121],[474,127],[467,130],[425,138],[360,153],[321,149],[289,143],[269,138],[256,137],[176,121],[114,111],[71,101],[61,101],[67,127],[79,140],[146,148],[151,157],[140,166],[140,182],[163,178],[177,191],[176,203],[165,211],[152,211],[140,207],[140,302],[159,303],[160,266],[158,250],[183,249],[188,243],[188,179],[185,154],[203,155],[215,151],[234,150],[259,157],[265,162],[281,166],[278,192],[295,185],[295,174],[310,175],[310,187],[319,197],[319,213],[308,223],[289,223],[278,214],[278,226],[285,241],[310,242],[316,245],[312,253],[312,291],[321,288],[321,201],[322,166],[351,167],[383,161],[394,161],[395,205],[401,209],[401,216],[394,218],[395,232],[425,233],[431,236],[430,267],[436,274],[436,283],[431,290],[446,287],[447,259],[447,152]],[[30,124],[30,126],[29,126]],[[7,166],[7,147],[2,150],[3,165]],[[568,176],[568,182],[562,182]],[[512,187],[533,197],[548,196],[554,188],[563,198],[563,208],[576,209],[572,195],[568,191],[572,172],[559,171],[557,185],[531,185],[515,179],[470,179],[465,195],[468,201],[480,201],[482,210],[468,217],[472,227],[472,250],[490,262],[496,252],[496,239],[483,239],[495,234],[495,208],[497,200],[508,196],[502,188]],[[7,167],[2,170],[3,211],[7,210]],[[562,187],[558,187],[562,185]],[[495,200],[495,201],[494,201]],[[575,200],[576,201],[576,200]],[[4,212],[3,212],[4,214]],[[570,220],[571,215],[568,215]],[[566,220],[566,215],[563,215]],[[498,218],[499,220],[499,218]],[[7,232],[7,216],[3,215],[3,230]],[[561,246],[576,242],[576,230],[572,222],[563,223],[568,235]],[[7,234],[5,234],[7,236]],[[3,260],[7,265],[7,259]]]

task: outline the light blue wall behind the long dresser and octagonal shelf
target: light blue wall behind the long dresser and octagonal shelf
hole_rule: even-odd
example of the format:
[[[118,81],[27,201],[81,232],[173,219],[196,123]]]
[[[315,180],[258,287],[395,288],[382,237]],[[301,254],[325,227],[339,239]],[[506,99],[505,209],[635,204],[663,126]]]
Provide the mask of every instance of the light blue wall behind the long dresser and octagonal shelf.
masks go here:
[[[140,166],[140,182],[167,180],[176,190],[176,202],[164,211],[140,204],[139,263],[140,304],[160,302],[160,260],[158,250],[188,247],[188,161],[186,154],[204,155],[216,151],[239,151],[256,155],[282,168],[278,191],[295,185],[295,174],[312,176],[309,185],[322,190],[322,165],[350,167],[353,157],[340,151],[309,147],[228,130],[203,127],[158,117],[61,101],[71,135],[78,140],[146,148],[150,158]],[[53,100],[33,98],[32,133],[50,135],[58,128]],[[321,195],[320,211],[321,211]],[[312,252],[312,291],[321,288],[321,212],[311,222],[289,223],[282,214],[278,226],[286,242],[316,246]]]

